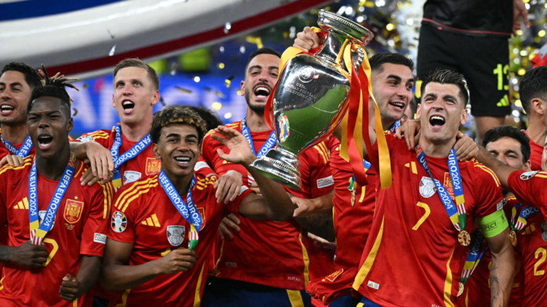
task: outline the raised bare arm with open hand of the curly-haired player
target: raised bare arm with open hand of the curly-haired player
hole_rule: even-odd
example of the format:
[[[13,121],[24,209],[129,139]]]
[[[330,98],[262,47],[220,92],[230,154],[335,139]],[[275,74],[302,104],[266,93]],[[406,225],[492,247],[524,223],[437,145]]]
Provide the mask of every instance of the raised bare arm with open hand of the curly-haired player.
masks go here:
[[[251,152],[245,137],[236,130],[224,126],[219,126],[215,132],[222,137],[219,135],[211,135],[211,137],[230,150],[226,154],[222,149],[217,149],[219,157],[244,166],[255,179],[262,193],[262,196],[254,193],[249,194],[239,205],[239,213],[246,218],[260,220],[286,220],[292,217],[296,206],[290,200],[285,189],[279,183],[267,179],[250,167],[250,163],[253,163],[257,157]]]

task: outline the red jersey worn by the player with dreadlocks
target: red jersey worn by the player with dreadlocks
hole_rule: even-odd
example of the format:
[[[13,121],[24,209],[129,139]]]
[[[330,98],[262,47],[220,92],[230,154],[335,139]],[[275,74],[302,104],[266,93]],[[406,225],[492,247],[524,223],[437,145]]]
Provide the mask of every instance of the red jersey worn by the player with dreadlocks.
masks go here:
[[[32,157],[29,157],[22,166],[0,169],[0,225],[8,225],[9,246],[19,246],[30,240],[28,180],[31,167]],[[58,207],[52,229],[43,240],[49,253],[45,266],[34,269],[5,263],[0,282],[0,306],[85,305],[86,295],[66,302],[59,296],[59,288],[65,275],[76,276],[81,255],[103,257],[114,189],[110,183],[83,187],[80,178],[84,171],[84,164],[79,163]],[[50,181],[39,173],[37,180],[38,209],[39,215],[43,216],[58,181]]]

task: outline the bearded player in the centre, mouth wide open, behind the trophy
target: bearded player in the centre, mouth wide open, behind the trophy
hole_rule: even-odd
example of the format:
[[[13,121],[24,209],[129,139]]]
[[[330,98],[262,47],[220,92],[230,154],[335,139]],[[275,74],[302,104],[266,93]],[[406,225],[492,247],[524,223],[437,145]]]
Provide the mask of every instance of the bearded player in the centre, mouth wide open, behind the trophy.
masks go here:
[[[250,55],[241,85],[247,103],[246,118],[227,125],[246,135],[258,157],[275,144],[275,134],[264,120],[264,109],[279,74],[280,56],[279,52],[269,48],[258,49]],[[219,175],[237,170],[243,175],[244,185],[250,187],[254,179],[245,168],[219,159],[216,150],[224,147],[212,138],[213,135],[204,138],[203,159]],[[290,190],[292,195],[310,198],[332,191],[328,148],[322,144],[301,155],[302,190]],[[230,218],[239,225],[235,225],[233,240],[223,240],[217,248],[214,268],[217,279],[207,289],[203,305],[256,306],[268,297],[277,296],[288,306],[290,302],[309,306],[310,296],[304,288],[310,278],[309,264],[313,255],[308,252],[307,236],[302,229],[311,226],[312,217],[274,223],[250,220],[236,212],[235,218]],[[331,214],[315,218],[314,229],[306,229],[312,234],[318,234],[329,226],[332,229]],[[230,223],[229,220],[226,222]]]

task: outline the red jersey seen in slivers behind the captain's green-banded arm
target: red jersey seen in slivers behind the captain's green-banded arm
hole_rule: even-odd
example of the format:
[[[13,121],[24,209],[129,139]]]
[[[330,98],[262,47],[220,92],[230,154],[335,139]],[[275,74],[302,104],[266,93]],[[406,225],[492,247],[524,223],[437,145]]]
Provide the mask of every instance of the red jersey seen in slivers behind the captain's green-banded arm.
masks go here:
[[[506,198],[504,212],[508,220],[511,220],[511,209],[513,209],[517,203],[518,201],[515,196]],[[517,242],[518,241],[519,240],[517,240]],[[517,245],[517,247],[515,247],[515,279],[513,280],[513,288],[511,289],[508,307],[530,306],[528,304],[522,304],[522,298],[524,297],[524,270],[522,269],[522,257],[520,253],[517,252],[519,246],[522,247],[522,245]],[[491,266],[492,254],[490,251],[486,251],[479,261],[478,266],[475,268],[475,271],[473,271],[473,274],[465,283],[464,293],[458,297],[458,306],[483,307],[491,304],[489,280]]]

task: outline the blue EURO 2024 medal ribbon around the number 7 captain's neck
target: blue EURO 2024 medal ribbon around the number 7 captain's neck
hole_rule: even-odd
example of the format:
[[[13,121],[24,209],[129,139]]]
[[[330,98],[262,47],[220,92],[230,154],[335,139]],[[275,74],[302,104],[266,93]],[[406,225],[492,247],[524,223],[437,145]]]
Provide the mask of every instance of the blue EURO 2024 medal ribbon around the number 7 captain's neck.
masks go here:
[[[460,168],[458,167],[458,160],[456,160],[455,158],[454,148],[450,150],[450,154],[448,156],[448,166],[454,195],[456,201],[458,202],[458,209],[456,209],[456,206],[454,205],[450,194],[448,194],[447,190],[444,189],[442,183],[440,183],[440,181],[436,179],[433,179],[433,176],[431,176],[431,171],[429,170],[429,166],[427,166],[425,154],[422,151],[422,147],[420,146],[420,144],[416,146],[415,150],[418,163],[420,163],[420,166],[422,166],[425,172],[427,172],[427,174],[429,175],[429,178],[431,178],[431,180],[433,180],[433,182],[435,183],[435,187],[437,188],[437,193],[440,197],[440,201],[442,202],[444,209],[447,210],[447,214],[450,218],[450,221],[452,222],[452,225],[454,225],[456,230],[462,231],[462,229],[465,229],[466,212],[463,203],[464,197],[462,188],[462,177],[460,177]],[[456,192],[456,187],[458,187],[459,193]]]

